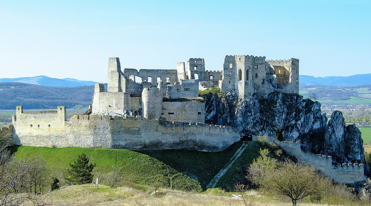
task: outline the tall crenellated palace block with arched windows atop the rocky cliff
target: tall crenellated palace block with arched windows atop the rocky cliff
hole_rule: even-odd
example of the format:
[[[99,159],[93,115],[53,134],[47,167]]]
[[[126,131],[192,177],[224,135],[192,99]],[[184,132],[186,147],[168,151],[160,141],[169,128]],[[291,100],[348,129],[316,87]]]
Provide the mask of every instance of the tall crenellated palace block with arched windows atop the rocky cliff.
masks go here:
[[[266,61],[265,57],[226,56],[219,86],[222,92],[236,92],[242,99],[253,93],[266,97],[274,91],[299,94],[299,59]]]

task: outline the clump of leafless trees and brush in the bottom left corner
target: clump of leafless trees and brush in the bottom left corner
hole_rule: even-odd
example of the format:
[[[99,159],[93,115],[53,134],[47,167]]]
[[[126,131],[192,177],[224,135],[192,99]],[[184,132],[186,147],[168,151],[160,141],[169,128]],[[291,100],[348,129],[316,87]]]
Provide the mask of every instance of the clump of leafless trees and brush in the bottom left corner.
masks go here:
[[[3,157],[3,160],[7,160],[0,165],[0,205],[22,205],[26,201],[34,205],[47,205],[42,196],[29,192],[30,181],[27,181],[29,172],[37,169],[40,160],[24,156],[16,161],[10,152],[1,154],[9,155],[10,158]]]

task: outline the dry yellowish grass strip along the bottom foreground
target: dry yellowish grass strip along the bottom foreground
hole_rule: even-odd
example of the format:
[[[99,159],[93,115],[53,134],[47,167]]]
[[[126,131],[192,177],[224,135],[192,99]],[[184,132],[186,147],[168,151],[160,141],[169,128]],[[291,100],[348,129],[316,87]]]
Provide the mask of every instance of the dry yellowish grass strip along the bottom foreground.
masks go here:
[[[152,190],[142,192],[131,187],[111,189],[106,186],[94,188],[93,184],[64,187],[60,190],[45,195],[48,203],[55,206],[239,206],[243,202],[237,201],[236,197],[181,192],[175,190],[160,189],[157,197],[150,195]],[[249,190],[246,194],[252,197],[254,206],[291,206],[290,202],[266,200],[258,195],[256,190]],[[298,206],[322,206],[318,204],[298,203]],[[323,205],[324,206],[324,205]],[[327,205],[328,206],[328,205]]]

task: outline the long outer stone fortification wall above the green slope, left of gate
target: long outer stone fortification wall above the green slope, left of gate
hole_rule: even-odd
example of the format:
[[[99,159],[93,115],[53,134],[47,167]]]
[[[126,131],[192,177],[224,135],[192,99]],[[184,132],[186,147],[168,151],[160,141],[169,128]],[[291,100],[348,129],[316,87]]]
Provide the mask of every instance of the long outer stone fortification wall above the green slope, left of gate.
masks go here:
[[[232,127],[100,115],[75,115],[64,127],[31,128],[14,122],[13,144],[121,149],[185,149],[219,152],[239,141]]]

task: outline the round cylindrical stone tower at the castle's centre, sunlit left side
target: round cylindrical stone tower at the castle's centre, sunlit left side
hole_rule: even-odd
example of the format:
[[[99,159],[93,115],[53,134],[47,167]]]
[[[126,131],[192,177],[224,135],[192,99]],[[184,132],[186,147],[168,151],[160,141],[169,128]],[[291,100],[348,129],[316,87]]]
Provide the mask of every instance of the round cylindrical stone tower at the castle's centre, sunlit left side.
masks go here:
[[[142,91],[143,117],[153,120],[161,117],[162,91],[158,88],[144,88]]]

